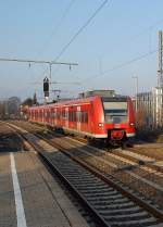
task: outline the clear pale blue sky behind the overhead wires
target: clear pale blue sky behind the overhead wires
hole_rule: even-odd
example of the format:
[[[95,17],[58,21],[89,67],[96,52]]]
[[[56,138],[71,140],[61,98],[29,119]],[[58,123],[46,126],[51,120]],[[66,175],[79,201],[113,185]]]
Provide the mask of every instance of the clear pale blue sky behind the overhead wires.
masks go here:
[[[0,58],[54,60],[101,3],[102,0],[0,0]],[[54,81],[82,85],[63,84],[51,89],[63,89],[63,97],[89,89],[115,89],[133,96],[131,77],[138,76],[139,91],[150,90],[156,85],[158,52],[117,66],[158,49],[162,12],[162,0],[109,0],[58,60],[76,62],[78,66],[72,71],[68,66],[52,66]],[[42,85],[33,83],[42,83],[46,75],[46,65],[0,62],[0,98],[25,99],[36,91],[41,99]]]

